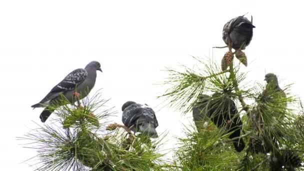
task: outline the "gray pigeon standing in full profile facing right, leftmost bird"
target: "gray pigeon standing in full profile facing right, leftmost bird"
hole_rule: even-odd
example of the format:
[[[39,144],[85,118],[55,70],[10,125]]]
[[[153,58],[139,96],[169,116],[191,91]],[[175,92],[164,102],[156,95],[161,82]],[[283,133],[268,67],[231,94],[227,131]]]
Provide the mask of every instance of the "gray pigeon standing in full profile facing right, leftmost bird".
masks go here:
[[[42,122],[54,111],[54,108],[47,107],[48,104],[55,104],[62,99],[63,95],[70,103],[75,101],[74,95],[80,93],[80,98],[85,97],[93,88],[96,80],[96,70],[101,70],[100,63],[97,61],[89,62],[85,68],[78,68],[71,71],[57,85],[55,85],[46,96],[31,107],[45,107],[40,114]]]

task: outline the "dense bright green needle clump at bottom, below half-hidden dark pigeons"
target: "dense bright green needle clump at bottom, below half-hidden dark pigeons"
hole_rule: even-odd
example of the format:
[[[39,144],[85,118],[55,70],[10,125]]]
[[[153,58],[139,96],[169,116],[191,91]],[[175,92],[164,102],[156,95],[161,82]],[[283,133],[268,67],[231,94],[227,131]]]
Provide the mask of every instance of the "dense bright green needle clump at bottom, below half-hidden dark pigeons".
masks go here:
[[[212,124],[201,131],[185,128],[186,137],[179,138],[175,164],[182,170],[236,170],[241,153],[231,150],[228,134],[222,134]]]

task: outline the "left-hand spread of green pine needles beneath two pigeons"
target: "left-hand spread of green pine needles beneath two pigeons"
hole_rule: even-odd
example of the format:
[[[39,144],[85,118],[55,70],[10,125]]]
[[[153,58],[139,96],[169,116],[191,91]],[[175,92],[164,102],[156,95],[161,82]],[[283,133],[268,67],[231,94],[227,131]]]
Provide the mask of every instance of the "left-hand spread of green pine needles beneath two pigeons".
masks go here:
[[[150,140],[123,128],[106,129],[111,107],[97,93],[70,105],[62,99],[58,119],[28,132],[22,140],[37,150],[37,170],[163,170],[162,138]],[[165,165],[164,165],[165,164]]]

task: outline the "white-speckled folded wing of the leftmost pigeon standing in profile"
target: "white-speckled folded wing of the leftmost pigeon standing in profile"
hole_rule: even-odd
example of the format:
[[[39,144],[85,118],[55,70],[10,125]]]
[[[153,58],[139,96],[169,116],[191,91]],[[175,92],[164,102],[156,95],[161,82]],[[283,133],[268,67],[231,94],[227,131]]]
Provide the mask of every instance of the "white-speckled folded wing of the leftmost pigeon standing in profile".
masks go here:
[[[62,81],[55,85],[39,103],[32,105],[32,107],[38,107],[39,104],[54,99],[60,93],[75,89],[79,83],[85,80],[86,76],[87,71],[85,69],[78,68],[71,71]]]

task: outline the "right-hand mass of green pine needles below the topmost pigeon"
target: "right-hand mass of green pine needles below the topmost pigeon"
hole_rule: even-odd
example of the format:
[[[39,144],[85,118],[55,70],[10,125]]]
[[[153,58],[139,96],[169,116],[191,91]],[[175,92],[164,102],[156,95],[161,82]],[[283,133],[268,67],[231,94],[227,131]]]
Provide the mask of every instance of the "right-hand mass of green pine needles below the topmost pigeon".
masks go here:
[[[238,106],[238,113],[233,117],[241,117],[240,136],[244,139],[246,146],[242,152],[235,153],[235,150],[229,146],[229,140],[226,140],[228,143],[217,145],[218,141],[224,138],[221,136],[226,135],[222,129],[215,128],[215,131],[212,129],[202,132],[193,132],[189,129],[186,131],[187,137],[179,139],[181,147],[176,150],[174,158],[177,165],[183,170],[201,170],[201,168],[268,170],[274,168],[273,164],[282,163],[284,168],[289,169],[290,166],[287,165],[289,161],[284,161],[288,150],[298,151],[298,157],[304,161],[302,145],[304,117],[302,110],[299,109],[299,99],[290,93],[291,85],[286,85],[283,92],[274,91],[271,88],[265,91],[264,82],[260,81],[253,85],[245,82],[246,73],[240,71],[240,65],[234,65],[231,62],[229,69],[221,71],[212,60],[196,59],[201,65],[198,71],[186,66],[184,66],[185,72],[168,69],[170,77],[164,84],[170,84],[170,88],[158,97],[167,99],[170,106],[183,114],[197,107],[196,103],[200,94],[210,96],[210,99],[202,106],[210,105],[211,99],[217,101],[214,113],[229,110],[226,107],[222,108],[222,99],[226,97],[232,99]],[[196,125],[197,129],[203,125],[203,122],[210,119],[202,114],[206,112],[205,109],[200,111],[202,118],[201,123]],[[193,115],[193,117],[197,116]],[[253,142],[259,144],[253,144]],[[250,149],[254,145],[259,151],[257,148]],[[230,155],[226,156],[225,151]],[[213,154],[218,157],[212,158]],[[281,163],[275,163],[276,160],[272,161],[273,158]],[[297,167],[297,169],[304,168]]]

